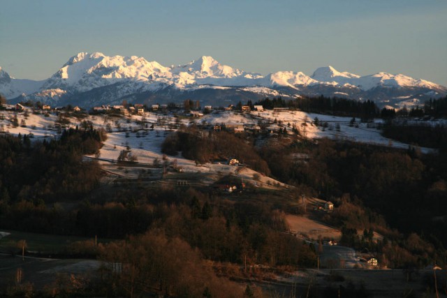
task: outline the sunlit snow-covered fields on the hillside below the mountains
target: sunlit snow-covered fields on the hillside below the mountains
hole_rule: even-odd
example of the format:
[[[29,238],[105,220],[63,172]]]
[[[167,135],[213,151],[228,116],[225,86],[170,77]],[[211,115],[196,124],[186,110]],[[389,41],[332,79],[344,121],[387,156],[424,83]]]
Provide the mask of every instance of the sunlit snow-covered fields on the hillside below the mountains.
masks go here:
[[[17,117],[19,126],[12,124],[13,119]],[[328,128],[316,126],[314,120],[318,118],[321,123],[327,122]],[[57,137],[57,127],[55,121],[58,117],[50,113],[45,117],[44,114],[34,114],[31,110],[24,112],[0,112],[0,131],[18,135],[19,133],[32,134],[34,140],[43,140],[44,138]],[[106,161],[116,161],[119,152],[130,147],[131,154],[138,158],[140,164],[153,164],[156,158],[162,160],[161,144],[166,135],[173,131],[175,124],[189,125],[193,121],[198,124],[239,124],[239,125],[257,125],[265,124],[270,131],[278,131],[279,128],[286,128],[291,134],[293,126],[305,137],[318,139],[329,137],[337,140],[353,140],[372,144],[381,144],[397,148],[408,148],[408,144],[395,142],[381,136],[380,131],[374,128],[374,124],[381,123],[381,119],[376,119],[374,124],[363,124],[356,121],[355,126],[350,126],[350,117],[332,117],[323,114],[309,114],[299,111],[264,111],[251,112],[251,114],[241,114],[237,112],[213,112],[205,114],[200,118],[185,118],[176,121],[175,117],[147,112],[144,116],[131,115],[129,117],[107,117],[103,115],[89,115],[85,119],[75,117],[67,118],[69,124],[66,127],[80,126],[82,121],[88,120],[95,128],[109,128],[108,140],[105,141],[100,152],[100,158]],[[142,121],[138,123],[137,121]],[[143,123],[143,124],[142,124]],[[147,124],[147,125],[146,125]],[[154,129],[148,129],[154,124]],[[368,127],[369,126],[369,127]],[[430,152],[432,149],[421,148],[422,152]],[[189,161],[179,156],[167,156],[169,161],[177,160],[177,165],[182,167],[184,172],[222,172],[235,173],[237,167],[230,165],[220,165],[207,163],[197,166],[195,161]],[[244,173],[247,177],[253,176],[254,172]],[[239,173],[241,174],[241,173]],[[267,182],[267,181],[261,181]]]

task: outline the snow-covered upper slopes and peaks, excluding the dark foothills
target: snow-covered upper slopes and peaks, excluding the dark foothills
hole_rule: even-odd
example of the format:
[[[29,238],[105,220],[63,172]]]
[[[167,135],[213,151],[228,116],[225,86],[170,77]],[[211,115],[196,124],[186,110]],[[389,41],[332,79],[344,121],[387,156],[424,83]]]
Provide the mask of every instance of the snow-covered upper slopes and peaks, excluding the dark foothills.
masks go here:
[[[115,90],[117,85],[120,86],[119,90]],[[168,87],[171,93],[184,94],[199,89],[203,92],[204,88],[198,88],[198,86],[206,85],[233,88],[266,87],[272,91],[272,94],[277,93],[274,92],[275,90],[281,89],[290,96],[348,94],[347,97],[350,98],[376,101],[393,99],[386,95],[387,92],[391,92],[391,96],[395,97],[397,94],[400,98],[412,96],[411,92],[427,94],[431,91],[430,96],[447,94],[446,87],[402,74],[376,73],[360,76],[339,72],[332,66],[327,66],[317,68],[312,76],[300,71],[277,71],[263,76],[259,73],[248,73],[222,65],[210,56],[200,57],[188,64],[166,67],[156,61],[147,61],[143,57],[119,55],[108,57],[101,52],[80,52],[68,59],[57,73],[47,80],[38,82],[13,79],[0,68],[0,93],[6,98],[12,99],[18,96],[17,100],[43,100],[49,103],[52,101],[52,94],[54,94],[54,101],[59,101],[64,98],[69,100],[74,95],[85,92],[88,92],[90,96],[96,94],[94,101],[98,101],[101,94],[98,93],[99,91],[92,91],[101,89],[105,92],[104,88],[109,89],[107,92],[111,96],[111,101],[119,100],[117,96],[131,96],[130,100],[141,101],[141,96],[138,94],[149,96],[149,93],[155,94]],[[176,90],[172,91],[172,87]],[[375,90],[378,88],[382,89],[381,97],[374,97],[374,93],[377,93]],[[387,89],[392,91],[387,91]],[[110,94],[110,90],[115,91]],[[214,88],[215,90],[217,89]],[[234,90],[233,92],[237,93]],[[45,96],[42,96],[43,94]],[[263,95],[265,95],[265,89],[263,89]],[[85,104],[88,105],[88,101]]]

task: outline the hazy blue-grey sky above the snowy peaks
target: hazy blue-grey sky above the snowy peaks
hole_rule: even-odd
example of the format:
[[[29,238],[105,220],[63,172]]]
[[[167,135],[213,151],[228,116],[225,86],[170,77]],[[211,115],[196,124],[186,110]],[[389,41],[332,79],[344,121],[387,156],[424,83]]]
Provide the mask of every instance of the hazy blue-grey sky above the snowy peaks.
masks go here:
[[[0,0],[0,66],[50,77],[78,52],[164,66],[207,55],[263,75],[320,66],[447,86],[446,0]]]

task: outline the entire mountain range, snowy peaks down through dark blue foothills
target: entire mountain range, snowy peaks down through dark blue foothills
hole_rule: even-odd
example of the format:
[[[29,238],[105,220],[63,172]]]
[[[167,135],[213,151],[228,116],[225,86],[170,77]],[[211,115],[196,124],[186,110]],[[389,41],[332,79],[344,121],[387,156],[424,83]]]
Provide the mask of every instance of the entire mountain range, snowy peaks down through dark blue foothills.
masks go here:
[[[447,88],[406,75],[376,73],[360,76],[332,66],[317,68],[311,76],[278,71],[248,73],[219,64],[209,56],[180,66],[162,66],[143,57],[108,57],[81,52],[47,80],[17,80],[0,68],[0,94],[10,103],[40,101],[50,105],[121,103],[179,103],[189,98],[202,105],[229,105],[270,96],[337,96],[374,100],[379,107],[422,105],[428,98],[447,95]]]

